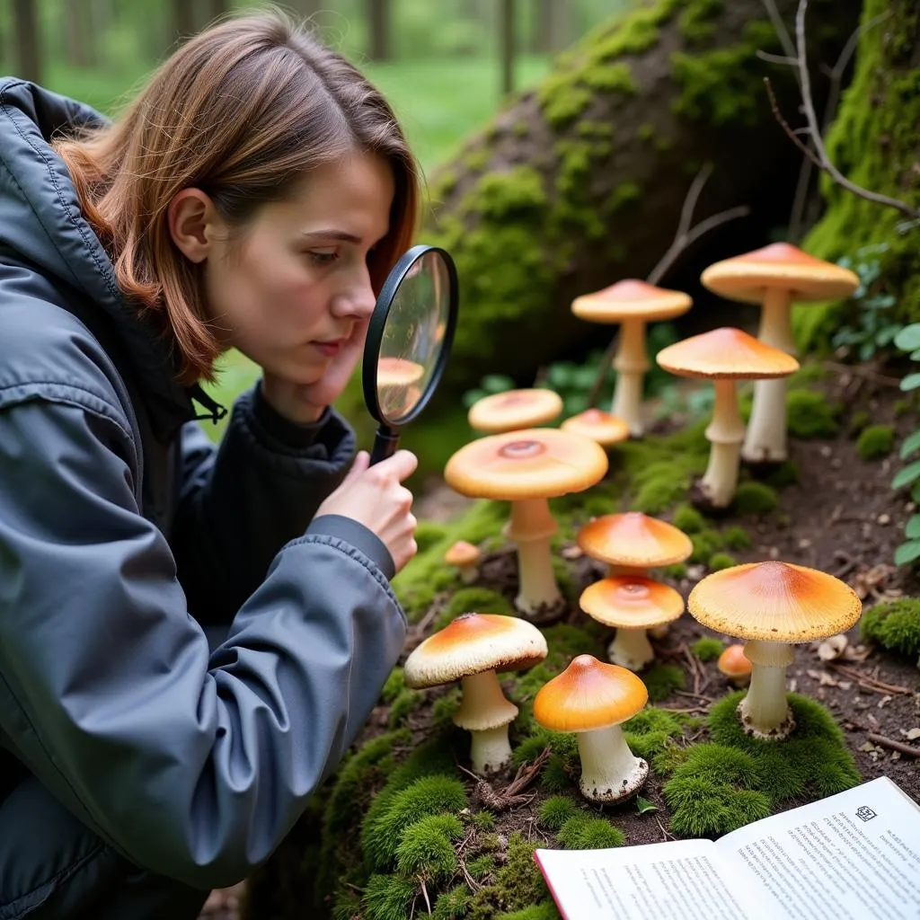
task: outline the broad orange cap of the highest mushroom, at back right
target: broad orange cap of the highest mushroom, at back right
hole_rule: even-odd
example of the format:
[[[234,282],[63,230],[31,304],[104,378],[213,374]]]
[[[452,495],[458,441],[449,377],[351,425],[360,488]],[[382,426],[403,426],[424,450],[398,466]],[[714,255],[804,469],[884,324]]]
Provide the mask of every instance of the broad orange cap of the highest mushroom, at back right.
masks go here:
[[[848,297],[859,287],[854,271],[815,259],[789,243],[774,243],[710,265],[704,285],[732,300],[760,304],[770,289],[788,290],[794,303]]]

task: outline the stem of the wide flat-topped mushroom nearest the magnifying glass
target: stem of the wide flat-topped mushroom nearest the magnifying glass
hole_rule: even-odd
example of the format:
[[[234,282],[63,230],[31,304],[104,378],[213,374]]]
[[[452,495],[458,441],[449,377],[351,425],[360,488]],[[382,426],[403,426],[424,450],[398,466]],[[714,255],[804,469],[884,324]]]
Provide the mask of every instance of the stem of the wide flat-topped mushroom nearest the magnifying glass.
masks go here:
[[[512,518],[505,535],[517,544],[518,595],[514,604],[524,614],[562,603],[549,546],[549,538],[557,530],[546,499],[512,501]]]

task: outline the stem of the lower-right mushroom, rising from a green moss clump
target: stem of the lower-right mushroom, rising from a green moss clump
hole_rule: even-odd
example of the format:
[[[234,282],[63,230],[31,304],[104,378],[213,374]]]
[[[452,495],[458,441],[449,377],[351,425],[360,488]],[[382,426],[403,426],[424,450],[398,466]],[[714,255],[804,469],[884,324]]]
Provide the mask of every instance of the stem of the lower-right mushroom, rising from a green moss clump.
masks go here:
[[[779,741],[795,728],[786,701],[786,669],[795,659],[785,642],[749,639],[744,657],[751,661],[751,687],[738,706],[744,730],[755,738]]]

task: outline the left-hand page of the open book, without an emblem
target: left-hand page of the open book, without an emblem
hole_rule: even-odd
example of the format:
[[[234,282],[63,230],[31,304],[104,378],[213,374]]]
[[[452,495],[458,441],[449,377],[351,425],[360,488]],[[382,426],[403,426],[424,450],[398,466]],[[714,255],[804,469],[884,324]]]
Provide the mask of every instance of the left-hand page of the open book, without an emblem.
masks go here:
[[[568,920],[760,920],[711,840],[534,853]],[[755,899],[751,899],[752,901]]]

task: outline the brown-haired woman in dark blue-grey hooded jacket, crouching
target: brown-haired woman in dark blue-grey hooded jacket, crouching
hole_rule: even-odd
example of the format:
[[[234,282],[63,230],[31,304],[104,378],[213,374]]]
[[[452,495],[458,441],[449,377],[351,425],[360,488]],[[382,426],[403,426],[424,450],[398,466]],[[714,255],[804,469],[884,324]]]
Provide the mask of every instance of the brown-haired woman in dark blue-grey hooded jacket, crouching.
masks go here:
[[[415,457],[352,463],[329,406],[416,170],[274,15],[190,40],[113,125],[17,79],[0,115],[0,917],[194,917],[402,646]],[[192,400],[219,416],[231,347],[262,374],[215,451]]]

